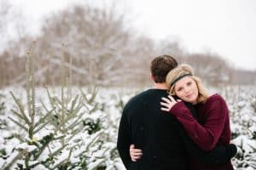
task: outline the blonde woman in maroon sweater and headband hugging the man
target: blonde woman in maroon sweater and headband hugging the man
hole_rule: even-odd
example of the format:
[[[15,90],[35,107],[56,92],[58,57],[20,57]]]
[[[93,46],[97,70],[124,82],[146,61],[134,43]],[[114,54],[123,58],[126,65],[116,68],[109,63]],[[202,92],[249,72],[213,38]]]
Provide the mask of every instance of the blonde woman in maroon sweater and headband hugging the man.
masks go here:
[[[203,150],[212,150],[216,144],[230,144],[230,118],[224,99],[218,94],[207,94],[201,80],[193,75],[189,65],[179,65],[168,73],[166,83],[169,93],[182,100],[175,100],[170,95],[169,99],[164,98],[160,103],[161,110],[175,116],[190,139]],[[183,101],[194,105],[198,120],[195,120]],[[142,151],[134,149],[133,145],[130,152],[133,161],[142,154]],[[207,165],[191,160],[190,169],[233,170],[234,168],[230,161],[219,165]]]

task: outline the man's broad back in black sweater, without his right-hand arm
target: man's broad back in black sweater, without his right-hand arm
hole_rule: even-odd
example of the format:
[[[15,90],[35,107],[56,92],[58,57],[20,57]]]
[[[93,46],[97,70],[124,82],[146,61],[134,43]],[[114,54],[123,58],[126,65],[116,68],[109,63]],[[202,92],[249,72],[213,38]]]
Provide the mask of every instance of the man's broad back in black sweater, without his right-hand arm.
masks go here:
[[[149,89],[132,98],[123,111],[118,150],[128,169],[187,169],[187,157],[179,136],[177,121],[160,111],[166,90]],[[132,162],[130,144],[143,150],[143,157]]]

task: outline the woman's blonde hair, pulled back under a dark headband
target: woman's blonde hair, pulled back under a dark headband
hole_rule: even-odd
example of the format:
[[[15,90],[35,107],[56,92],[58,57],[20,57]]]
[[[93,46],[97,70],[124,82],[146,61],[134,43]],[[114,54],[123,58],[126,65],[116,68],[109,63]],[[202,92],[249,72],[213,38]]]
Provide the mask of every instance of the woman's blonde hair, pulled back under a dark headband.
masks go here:
[[[202,85],[201,79],[199,77],[194,76],[194,71],[190,65],[182,64],[178,65],[176,68],[172,69],[172,71],[169,71],[169,73],[166,76],[166,84],[168,87],[169,94],[176,95],[174,91],[175,82],[177,82],[180,78],[189,76],[191,77],[198,88],[198,103],[204,103],[209,95]]]

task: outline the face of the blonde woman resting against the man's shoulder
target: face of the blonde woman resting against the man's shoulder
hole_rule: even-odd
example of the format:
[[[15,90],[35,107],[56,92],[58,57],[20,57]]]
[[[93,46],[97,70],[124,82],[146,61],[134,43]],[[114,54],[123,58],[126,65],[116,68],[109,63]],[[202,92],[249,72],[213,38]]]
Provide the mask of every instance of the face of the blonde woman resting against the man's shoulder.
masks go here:
[[[178,80],[174,86],[174,92],[180,99],[189,102],[193,105],[197,103],[198,88],[191,77],[183,77]]]

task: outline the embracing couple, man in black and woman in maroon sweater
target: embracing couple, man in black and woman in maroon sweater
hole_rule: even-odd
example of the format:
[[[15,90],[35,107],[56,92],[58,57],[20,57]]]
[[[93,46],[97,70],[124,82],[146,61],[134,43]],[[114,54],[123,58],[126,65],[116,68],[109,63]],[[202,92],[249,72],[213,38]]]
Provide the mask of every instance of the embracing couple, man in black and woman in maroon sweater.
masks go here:
[[[232,170],[230,116],[219,94],[208,94],[189,65],[169,55],[150,65],[154,88],[129,100],[117,149],[127,169]]]

